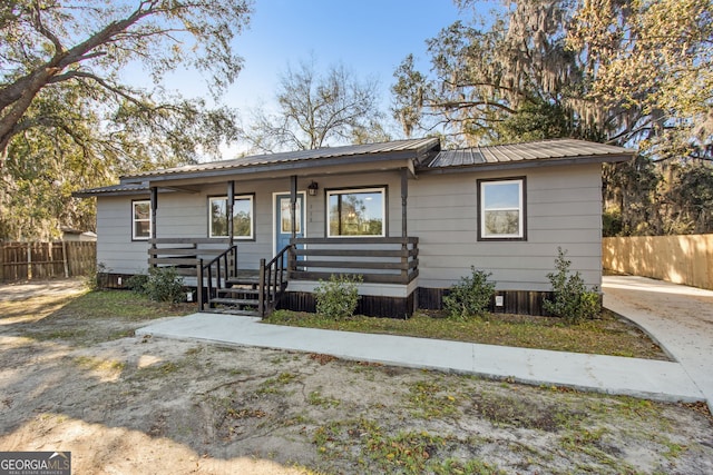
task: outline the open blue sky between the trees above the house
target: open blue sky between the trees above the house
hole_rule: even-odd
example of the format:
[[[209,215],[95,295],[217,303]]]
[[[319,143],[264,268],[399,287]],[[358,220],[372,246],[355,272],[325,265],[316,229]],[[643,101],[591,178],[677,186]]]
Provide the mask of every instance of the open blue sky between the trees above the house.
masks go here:
[[[318,70],[342,63],[360,80],[375,79],[388,112],[395,68],[413,53],[419,69],[428,69],[426,40],[458,18],[452,0],[255,0],[248,27],[234,40],[244,67],[222,102],[241,115],[268,108],[280,75],[314,57]],[[178,75],[166,86],[208,96],[199,78]]]

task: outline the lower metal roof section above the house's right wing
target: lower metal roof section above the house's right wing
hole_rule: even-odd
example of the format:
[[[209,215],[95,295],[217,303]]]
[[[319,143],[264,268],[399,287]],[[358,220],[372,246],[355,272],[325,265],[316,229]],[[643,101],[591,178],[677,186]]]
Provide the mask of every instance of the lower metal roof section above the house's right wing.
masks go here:
[[[471,167],[557,159],[624,161],[632,158],[634,154],[634,150],[606,144],[575,139],[553,139],[460,150],[442,150],[426,168]]]

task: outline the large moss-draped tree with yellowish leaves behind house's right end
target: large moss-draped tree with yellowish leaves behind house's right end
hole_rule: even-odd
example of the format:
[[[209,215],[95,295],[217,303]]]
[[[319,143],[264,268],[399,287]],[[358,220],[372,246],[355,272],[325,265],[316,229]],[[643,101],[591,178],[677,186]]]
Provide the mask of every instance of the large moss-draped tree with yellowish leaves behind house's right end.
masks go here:
[[[711,0],[505,6],[487,26],[457,21],[429,40],[433,76],[407,57],[397,118],[436,122],[461,144],[576,137],[656,158],[713,141]]]

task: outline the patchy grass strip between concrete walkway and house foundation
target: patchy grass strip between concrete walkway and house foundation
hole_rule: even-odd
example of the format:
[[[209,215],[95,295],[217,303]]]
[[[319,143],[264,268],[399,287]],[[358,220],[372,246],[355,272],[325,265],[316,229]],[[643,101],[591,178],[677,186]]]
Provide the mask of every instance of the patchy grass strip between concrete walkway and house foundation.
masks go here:
[[[490,314],[486,318],[459,321],[445,318],[439,311],[419,311],[407,320],[355,316],[338,321],[316,314],[279,310],[263,321],[486,345],[668,359],[641,329],[609,311],[603,313],[602,318],[578,325],[566,325],[561,319],[553,317],[508,314]]]

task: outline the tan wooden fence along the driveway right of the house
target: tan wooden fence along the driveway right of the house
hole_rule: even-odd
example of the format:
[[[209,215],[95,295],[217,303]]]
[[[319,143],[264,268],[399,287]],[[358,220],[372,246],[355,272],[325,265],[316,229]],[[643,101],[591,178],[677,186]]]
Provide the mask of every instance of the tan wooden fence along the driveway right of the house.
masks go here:
[[[604,268],[713,289],[713,234],[604,238]]]

